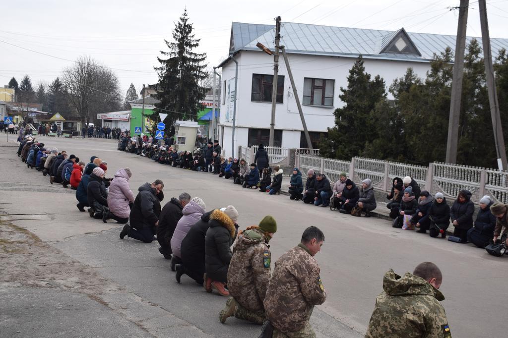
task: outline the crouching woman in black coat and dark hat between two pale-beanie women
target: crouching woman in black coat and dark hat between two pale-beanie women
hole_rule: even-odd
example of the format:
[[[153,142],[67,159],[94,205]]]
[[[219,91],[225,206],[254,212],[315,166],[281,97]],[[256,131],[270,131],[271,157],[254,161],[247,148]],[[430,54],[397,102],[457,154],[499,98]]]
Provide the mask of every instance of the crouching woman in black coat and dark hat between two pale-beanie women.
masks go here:
[[[461,190],[450,210],[450,218],[455,227],[453,235],[460,238],[460,243],[467,243],[467,231],[473,226],[474,204],[471,192]]]

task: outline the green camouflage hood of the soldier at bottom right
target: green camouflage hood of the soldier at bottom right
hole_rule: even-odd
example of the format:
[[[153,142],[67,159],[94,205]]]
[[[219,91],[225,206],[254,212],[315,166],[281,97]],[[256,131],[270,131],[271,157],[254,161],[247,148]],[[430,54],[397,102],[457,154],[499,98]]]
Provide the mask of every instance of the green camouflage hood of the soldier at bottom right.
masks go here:
[[[429,295],[437,300],[444,299],[443,294],[423,278],[408,272],[400,277],[392,269],[383,278],[383,289],[391,296]]]

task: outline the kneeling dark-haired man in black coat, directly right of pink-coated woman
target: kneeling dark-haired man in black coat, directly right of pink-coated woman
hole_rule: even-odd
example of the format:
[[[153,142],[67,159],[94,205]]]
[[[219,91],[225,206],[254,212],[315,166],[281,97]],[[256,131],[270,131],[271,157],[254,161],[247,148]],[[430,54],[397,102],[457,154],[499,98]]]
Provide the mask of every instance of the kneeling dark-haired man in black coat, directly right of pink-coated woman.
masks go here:
[[[163,188],[164,183],[161,180],[155,180],[152,184],[145,183],[139,187],[129,216],[130,224],[125,224],[120,232],[122,240],[128,235],[144,243],[153,242],[158,217],[161,214],[161,201],[164,199]]]

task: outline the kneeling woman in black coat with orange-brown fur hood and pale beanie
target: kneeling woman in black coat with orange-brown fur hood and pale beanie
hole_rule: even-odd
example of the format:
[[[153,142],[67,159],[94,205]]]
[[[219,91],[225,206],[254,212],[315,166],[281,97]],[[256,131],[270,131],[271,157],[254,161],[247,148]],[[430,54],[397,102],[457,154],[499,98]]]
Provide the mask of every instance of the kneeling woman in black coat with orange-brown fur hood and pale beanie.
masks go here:
[[[210,227],[205,237],[205,289],[208,292],[211,292],[213,287],[220,294],[229,295],[225,286],[228,281],[229,263],[233,256],[231,245],[236,238],[237,219],[238,212],[233,206],[216,209],[210,215],[208,221]]]

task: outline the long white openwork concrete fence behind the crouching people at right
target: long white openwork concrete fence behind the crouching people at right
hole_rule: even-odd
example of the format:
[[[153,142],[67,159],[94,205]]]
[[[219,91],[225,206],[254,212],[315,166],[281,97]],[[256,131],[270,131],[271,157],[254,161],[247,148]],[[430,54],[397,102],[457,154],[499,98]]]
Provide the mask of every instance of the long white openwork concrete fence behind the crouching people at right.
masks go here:
[[[303,174],[309,169],[325,174],[331,183],[345,172],[355,183],[369,178],[374,189],[389,192],[395,177],[410,176],[422,190],[435,194],[440,191],[455,199],[460,190],[472,193],[471,200],[480,201],[483,195],[508,204],[508,172],[494,169],[434,162],[429,166],[388,162],[371,158],[354,157],[351,161],[336,160],[315,155],[308,149],[297,149],[295,166]]]

